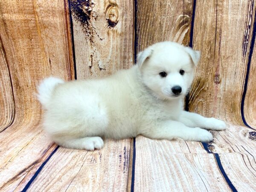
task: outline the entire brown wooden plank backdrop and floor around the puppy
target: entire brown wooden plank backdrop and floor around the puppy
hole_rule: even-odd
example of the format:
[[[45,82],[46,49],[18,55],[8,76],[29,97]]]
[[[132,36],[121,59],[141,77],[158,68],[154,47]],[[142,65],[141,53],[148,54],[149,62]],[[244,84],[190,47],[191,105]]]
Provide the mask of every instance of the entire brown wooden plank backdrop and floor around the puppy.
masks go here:
[[[254,0],[0,0],[0,192],[256,191]],[[36,86],[129,68],[157,41],[202,51],[186,110],[223,119],[212,143],[54,144]]]

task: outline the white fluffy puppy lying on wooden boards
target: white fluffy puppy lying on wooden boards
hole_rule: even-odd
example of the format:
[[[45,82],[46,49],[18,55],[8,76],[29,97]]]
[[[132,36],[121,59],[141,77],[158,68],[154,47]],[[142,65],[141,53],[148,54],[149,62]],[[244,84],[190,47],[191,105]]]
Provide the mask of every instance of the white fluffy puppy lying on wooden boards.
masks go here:
[[[94,150],[104,138],[141,134],[152,139],[209,142],[205,130],[226,124],[183,111],[200,52],[160,42],[138,54],[137,64],[104,79],[64,82],[50,77],[38,87],[44,128],[59,145]]]

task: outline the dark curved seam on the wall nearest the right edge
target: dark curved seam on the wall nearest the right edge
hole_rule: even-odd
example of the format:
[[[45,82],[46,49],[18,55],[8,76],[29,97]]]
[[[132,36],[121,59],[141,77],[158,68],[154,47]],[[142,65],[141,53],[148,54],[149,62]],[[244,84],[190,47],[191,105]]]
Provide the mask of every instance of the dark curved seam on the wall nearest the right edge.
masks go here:
[[[247,85],[248,85],[248,79],[249,79],[249,73],[250,73],[250,64],[251,64],[251,59],[253,55],[253,49],[254,49],[254,43],[255,43],[255,36],[256,36],[256,12],[254,13],[254,22],[253,22],[253,37],[251,40],[250,44],[250,52],[248,56],[248,63],[247,63],[247,70],[246,70],[246,75],[245,75],[245,80],[244,80],[244,91],[242,94],[242,99],[241,99],[241,118],[245,126],[248,128],[251,128],[253,130],[256,130],[255,128],[252,128],[250,125],[247,124],[245,117],[244,117],[244,99],[246,96],[246,91],[247,91]]]

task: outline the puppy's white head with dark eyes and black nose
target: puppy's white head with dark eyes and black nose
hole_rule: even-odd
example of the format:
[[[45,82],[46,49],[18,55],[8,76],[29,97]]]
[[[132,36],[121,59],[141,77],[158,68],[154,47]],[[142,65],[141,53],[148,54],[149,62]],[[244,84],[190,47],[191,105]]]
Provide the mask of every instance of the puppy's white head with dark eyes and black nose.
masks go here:
[[[160,42],[137,55],[143,83],[160,99],[186,96],[200,52],[174,42]]]

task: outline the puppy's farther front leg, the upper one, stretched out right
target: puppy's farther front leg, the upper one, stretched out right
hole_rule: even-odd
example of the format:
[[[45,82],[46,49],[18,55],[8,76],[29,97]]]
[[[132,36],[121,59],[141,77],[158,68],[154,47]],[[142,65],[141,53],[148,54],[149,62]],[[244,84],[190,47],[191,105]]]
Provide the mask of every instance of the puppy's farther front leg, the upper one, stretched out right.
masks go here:
[[[226,123],[224,121],[215,118],[207,118],[197,113],[190,113],[187,111],[181,112],[179,121],[189,127],[200,127],[209,130],[220,131],[225,130],[227,128]]]

